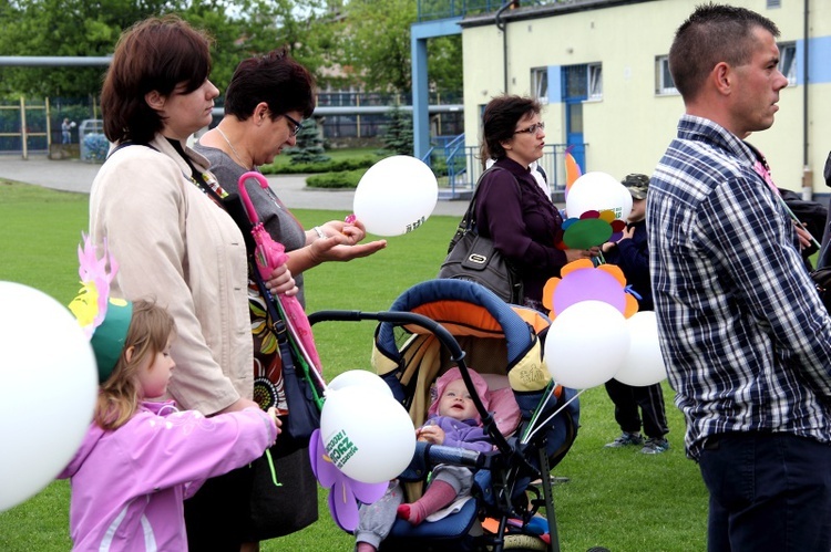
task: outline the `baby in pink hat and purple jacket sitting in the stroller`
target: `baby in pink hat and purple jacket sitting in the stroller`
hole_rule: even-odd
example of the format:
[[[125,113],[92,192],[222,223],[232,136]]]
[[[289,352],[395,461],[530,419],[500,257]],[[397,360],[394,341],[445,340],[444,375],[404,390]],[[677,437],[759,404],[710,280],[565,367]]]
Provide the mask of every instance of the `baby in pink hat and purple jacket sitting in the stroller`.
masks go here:
[[[476,395],[488,407],[488,384],[476,372],[470,371]],[[430,405],[430,417],[416,430],[418,440],[460,447],[479,452],[493,450],[493,444],[481,427],[482,420],[473,405],[459,368],[451,368],[435,383],[437,398]],[[458,498],[470,494],[473,472],[462,466],[438,465],[432,470],[424,496],[412,503],[400,504],[402,493],[397,481],[387,494],[372,504],[361,506],[356,530],[358,552],[373,552],[390,532],[394,515],[418,525],[424,519]],[[400,504],[400,506],[399,506]]]

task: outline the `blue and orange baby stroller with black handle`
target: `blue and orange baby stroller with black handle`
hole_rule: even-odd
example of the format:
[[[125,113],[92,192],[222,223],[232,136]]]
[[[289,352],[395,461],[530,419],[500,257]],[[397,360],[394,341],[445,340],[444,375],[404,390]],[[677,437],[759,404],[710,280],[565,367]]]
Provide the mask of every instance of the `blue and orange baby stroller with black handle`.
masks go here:
[[[474,500],[440,521],[398,520],[381,550],[558,551],[550,471],[576,437],[579,406],[576,392],[555,386],[543,362],[550,320],[476,283],[448,279],[410,288],[386,312],[309,316],[312,324],[361,320],[379,322],[372,365],[416,426],[427,418],[432,382],[458,366],[495,445],[481,454],[419,442],[399,477],[410,481],[408,499],[420,496],[431,466],[451,464],[476,470]],[[489,382],[494,412],[476,395],[469,366]]]

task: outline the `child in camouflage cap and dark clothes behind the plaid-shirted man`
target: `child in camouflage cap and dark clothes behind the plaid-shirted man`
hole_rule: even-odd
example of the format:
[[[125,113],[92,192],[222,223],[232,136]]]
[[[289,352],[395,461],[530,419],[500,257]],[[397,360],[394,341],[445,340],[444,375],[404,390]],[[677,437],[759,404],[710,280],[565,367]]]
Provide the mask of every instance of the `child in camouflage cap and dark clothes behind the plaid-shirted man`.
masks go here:
[[[649,190],[649,177],[632,174],[627,175],[622,184],[632,195],[632,210],[623,236],[617,241],[604,243],[603,256],[607,263],[616,264],[623,271],[627,284],[639,298],[638,312],[652,311],[654,306],[646,237],[646,196]],[[612,378],[605,386],[615,405],[615,420],[622,431],[620,436],[606,447],[643,445],[640,452],[645,455],[658,455],[667,450],[669,441],[665,435],[669,433],[669,426],[660,384],[633,386]],[[646,440],[640,435],[642,424]]]

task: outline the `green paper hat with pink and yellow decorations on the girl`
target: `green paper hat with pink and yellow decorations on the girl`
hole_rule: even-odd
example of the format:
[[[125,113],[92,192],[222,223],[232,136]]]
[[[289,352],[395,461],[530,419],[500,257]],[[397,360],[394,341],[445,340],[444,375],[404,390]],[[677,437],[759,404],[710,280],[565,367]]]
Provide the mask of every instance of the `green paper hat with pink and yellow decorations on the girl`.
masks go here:
[[[69,304],[70,311],[90,340],[99,368],[99,383],[104,383],[115,369],[133,317],[133,304],[123,299],[110,298],[110,283],[119,265],[110,256],[104,242],[104,256],[99,259],[95,246],[83,236],[83,247],[78,247],[81,290]],[[110,272],[106,270],[110,264]]]

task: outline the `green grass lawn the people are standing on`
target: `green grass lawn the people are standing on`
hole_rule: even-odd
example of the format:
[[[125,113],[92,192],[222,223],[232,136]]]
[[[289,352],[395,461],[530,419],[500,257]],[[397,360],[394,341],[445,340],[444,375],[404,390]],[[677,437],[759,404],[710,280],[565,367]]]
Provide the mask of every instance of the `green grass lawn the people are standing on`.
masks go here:
[[[297,210],[305,226],[342,219],[346,212]],[[88,196],[0,180],[0,280],[44,291],[62,303],[78,292],[76,248],[88,223]],[[378,254],[350,263],[328,263],[306,274],[308,311],[387,309],[403,290],[435,275],[458,223],[431,217],[417,231],[389,239]],[[375,326],[326,323],[315,326],[325,375],[369,368]],[[37,354],[35,351],[32,354]],[[21,368],[21,369],[24,369]],[[613,552],[706,549],[707,492],[696,465],[684,455],[684,420],[665,385],[671,448],[645,456],[636,449],[604,449],[619,433],[603,387],[581,396],[579,435],[553,473],[571,481],[554,488],[563,551],[603,545]],[[33,402],[34,404],[34,402]],[[25,423],[21,413],[20,423]],[[37,438],[37,428],[32,428]],[[3,454],[13,454],[3,450]],[[55,481],[27,502],[0,513],[0,550],[65,551],[69,485]],[[320,520],[293,535],[263,543],[264,551],[350,551],[352,539],[331,521],[319,492]]]

